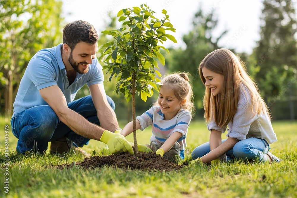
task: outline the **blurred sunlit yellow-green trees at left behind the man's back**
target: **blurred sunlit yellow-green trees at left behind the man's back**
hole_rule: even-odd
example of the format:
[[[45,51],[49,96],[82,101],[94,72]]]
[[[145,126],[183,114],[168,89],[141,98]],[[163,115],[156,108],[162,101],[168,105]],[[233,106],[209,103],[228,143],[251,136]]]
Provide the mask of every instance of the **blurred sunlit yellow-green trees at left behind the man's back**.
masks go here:
[[[31,57],[61,41],[62,2],[1,0],[0,2],[0,104],[12,115],[18,85]],[[5,108],[3,108],[5,106]]]

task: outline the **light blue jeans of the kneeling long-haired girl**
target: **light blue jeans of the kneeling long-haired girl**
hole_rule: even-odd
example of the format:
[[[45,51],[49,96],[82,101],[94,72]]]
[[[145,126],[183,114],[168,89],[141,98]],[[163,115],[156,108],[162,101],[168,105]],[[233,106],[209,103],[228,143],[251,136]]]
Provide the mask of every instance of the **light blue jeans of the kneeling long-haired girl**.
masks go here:
[[[222,143],[227,139],[222,140]],[[226,153],[227,161],[233,159],[245,159],[248,161],[260,162],[268,161],[264,155],[270,150],[269,144],[266,140],[255,137],[250,137],[245,140],[237,142],[233,149]],[[194,149],[192,152],[192,159],[197,159],[210,152],[209,142],[206,142]]]

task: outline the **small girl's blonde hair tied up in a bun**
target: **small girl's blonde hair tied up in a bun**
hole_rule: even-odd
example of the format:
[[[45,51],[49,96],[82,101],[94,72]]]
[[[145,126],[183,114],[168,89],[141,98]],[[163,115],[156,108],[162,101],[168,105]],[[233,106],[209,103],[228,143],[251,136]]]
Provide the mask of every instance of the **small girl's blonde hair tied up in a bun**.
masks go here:
[[[167,75],[162,78],[160,85],[166,85],[167,88],[173,91],[179,101],[186,99],[181,109],[189,111],[191,115],[195,113],[192,86],[189,83],[189,77],[186,73]],[[155,105],[158,105],[158,102]]]

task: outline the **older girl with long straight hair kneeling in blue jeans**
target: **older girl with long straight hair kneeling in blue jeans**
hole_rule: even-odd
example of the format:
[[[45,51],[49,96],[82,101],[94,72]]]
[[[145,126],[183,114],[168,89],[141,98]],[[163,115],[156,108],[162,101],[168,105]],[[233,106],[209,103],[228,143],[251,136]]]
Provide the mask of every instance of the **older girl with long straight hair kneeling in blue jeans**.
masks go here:
[[[249,161],[279,161],[269,145],[277,141],[268,108],[242,62],[228,49],[209,53],[199,65],[205,84],[204,117],[211,131],[209,142],[192,152],[190,164],[227,156]],[[221,134],[228,130],[227,139]]]

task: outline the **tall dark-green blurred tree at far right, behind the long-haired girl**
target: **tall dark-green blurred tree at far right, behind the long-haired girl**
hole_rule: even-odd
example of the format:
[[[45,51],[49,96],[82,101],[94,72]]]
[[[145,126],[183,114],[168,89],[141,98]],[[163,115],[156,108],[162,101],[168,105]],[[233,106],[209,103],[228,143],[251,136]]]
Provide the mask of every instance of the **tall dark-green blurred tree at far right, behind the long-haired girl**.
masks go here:
[[[287,111],[282,107],[276,113],[274,103],[289,101],[290,89],[296,94],[296,12],[290,0],[265,0],[263,5],[260,41],[250,56],[249,71],[272,114],[283,116]]]

